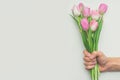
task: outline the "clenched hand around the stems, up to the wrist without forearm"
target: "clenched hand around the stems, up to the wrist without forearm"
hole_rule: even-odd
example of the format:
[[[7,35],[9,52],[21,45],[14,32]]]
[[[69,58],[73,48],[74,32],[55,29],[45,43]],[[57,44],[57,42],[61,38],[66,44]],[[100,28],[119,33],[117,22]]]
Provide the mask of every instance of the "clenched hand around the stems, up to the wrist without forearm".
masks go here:
[[[101,52],[101,51],[94,51],[93,53],[89,53],[88,51],[84,50],[84,65],[86,69],[94,68],[95,64],[98,62],[99,69],[101,72],[107,70],[107,60],[108,58]]]

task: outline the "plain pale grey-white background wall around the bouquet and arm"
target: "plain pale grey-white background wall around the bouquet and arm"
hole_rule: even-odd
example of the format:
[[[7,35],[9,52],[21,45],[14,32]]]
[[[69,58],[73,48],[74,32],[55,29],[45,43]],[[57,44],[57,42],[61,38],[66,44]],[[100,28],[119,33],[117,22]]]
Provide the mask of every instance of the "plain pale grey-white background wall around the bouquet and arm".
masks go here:
[[[0,80],[90,80],[83,65],[84,46],[71,14],[77,0],[0,0]],[[120,1],[81,0],[104,16],[99,50],[120,56]],[[100,80],[119,80],[120,72]]]

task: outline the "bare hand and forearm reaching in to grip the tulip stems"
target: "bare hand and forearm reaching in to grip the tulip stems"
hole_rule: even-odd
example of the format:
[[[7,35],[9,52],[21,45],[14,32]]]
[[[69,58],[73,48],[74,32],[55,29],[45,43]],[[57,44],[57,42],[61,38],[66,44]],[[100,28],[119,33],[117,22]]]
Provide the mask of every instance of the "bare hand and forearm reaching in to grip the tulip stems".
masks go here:
[[[106,57],[101,51],[89,53],[84,50],[84,64],[86,69],[90,70],[95,67],[98,62],[101,72],[120,71],[120,57]]]

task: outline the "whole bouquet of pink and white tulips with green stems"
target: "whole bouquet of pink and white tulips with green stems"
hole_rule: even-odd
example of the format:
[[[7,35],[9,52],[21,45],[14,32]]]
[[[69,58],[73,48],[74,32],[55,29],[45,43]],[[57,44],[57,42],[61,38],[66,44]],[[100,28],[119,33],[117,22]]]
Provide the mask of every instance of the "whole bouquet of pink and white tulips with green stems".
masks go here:
[[[90,10],[90,8],[79,3],[72,8],[72,18],[77,23],[83,44],[86,50],[90,53],[98,50],[98,41],[103,24],[103,15],[107,11],[107,5],[101,3],[98,10]],[[91,80],[98,80],[99,78],[99,66],[95,65],[90,70]]]

